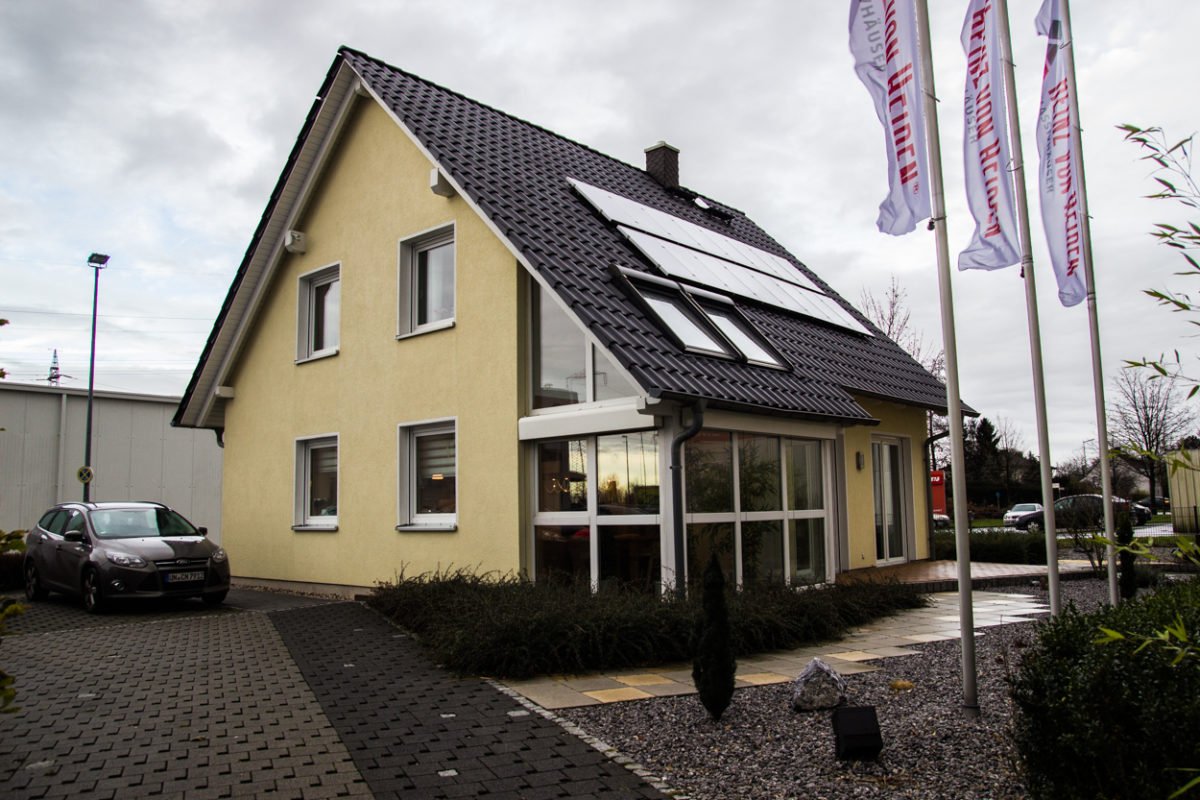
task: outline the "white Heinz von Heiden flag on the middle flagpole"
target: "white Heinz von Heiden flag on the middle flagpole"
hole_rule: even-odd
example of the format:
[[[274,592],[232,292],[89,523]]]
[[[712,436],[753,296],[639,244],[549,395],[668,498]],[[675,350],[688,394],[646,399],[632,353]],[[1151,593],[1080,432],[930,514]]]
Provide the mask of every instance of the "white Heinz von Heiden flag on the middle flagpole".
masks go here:
[[[992,0],[971,0],[962,23],[967,56],[962,157],[976,229],[960,270],[997,270],[1021,260],[1013,194],[1008,102]]]

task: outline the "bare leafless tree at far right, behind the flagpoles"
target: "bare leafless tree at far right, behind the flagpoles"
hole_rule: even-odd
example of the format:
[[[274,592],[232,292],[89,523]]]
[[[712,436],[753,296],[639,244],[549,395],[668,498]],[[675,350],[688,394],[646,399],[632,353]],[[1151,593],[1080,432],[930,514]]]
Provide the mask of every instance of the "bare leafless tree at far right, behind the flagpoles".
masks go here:
[[[1109,411],[1118,458],[1150,481],[1151,501],[1159,495],[1164,457],[1195,429],[1195,413],[1181,399],[1174,375],[1123,369],[1112,381],[1116,399]]]

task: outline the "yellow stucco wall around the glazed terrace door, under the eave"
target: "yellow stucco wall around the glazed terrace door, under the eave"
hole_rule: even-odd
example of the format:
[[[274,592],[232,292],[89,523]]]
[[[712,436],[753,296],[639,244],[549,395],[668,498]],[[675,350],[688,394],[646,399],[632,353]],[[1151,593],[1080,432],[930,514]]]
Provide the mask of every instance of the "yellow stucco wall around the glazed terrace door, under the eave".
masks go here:
[[[907,527],[904,557],[912,561],[929,558],[929,501],[923,447],[926,432],[925,411],[911,405],[870,398],[854,398],[871,416],[880,421],[874,427],[852,427],[845,431],[846,452],[846,530],[848,564],[842,569],[858,570],[877,563],[875,542],[875,487],[871,443],[881,439],[899,440],[905,453],[907,473],[904,524]],[[857,468],[857,453],[863,455],[863,468]]]

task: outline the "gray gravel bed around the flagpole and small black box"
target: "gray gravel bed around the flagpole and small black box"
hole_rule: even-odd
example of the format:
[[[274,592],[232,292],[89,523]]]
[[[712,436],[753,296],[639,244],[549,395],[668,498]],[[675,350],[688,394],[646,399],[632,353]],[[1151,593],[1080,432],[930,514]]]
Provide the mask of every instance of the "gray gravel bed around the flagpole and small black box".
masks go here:
[[[1088,609],[1106,601],[1103,581],[1063,581],[1063,601]],[[1020,591],[1046,600],[1024,584]],[[1033,624],[989,627],[976,638],[978,718],[962,706],[958,639],[917,645],[919,655],[883,658],[878,672],[848,675],[852,705],[874,705],[883,734],[876,762],[834,756],[830,711],[791,710],[791,685],[739,688],[720,722],[696,696],[569,709],[559,714],[696,800],[775,798],[1027,796],[1010,745],[1006,678],[1033,640]],[[893,691],[893,680],[913,684]]]

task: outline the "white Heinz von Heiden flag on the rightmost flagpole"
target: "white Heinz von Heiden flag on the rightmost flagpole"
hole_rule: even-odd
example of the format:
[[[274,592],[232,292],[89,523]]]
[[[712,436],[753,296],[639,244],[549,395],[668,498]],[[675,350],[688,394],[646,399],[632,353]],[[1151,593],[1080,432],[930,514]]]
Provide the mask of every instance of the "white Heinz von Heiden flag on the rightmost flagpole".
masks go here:
[[[1038,12],[1038,34],[1046,37],[1046,65],[1042,74],[1042,106],[1038,112],[1038,188],[1042,194],[1042,223],[1046,229],[1050,261],[1058,279],[1058,300],[1078,305],[1086,295],[1084,278],[1084,197],[1079,185],[1080,154],[1072,136],[1075,88],[1062,52],[1062,4],[1044,0]]]

